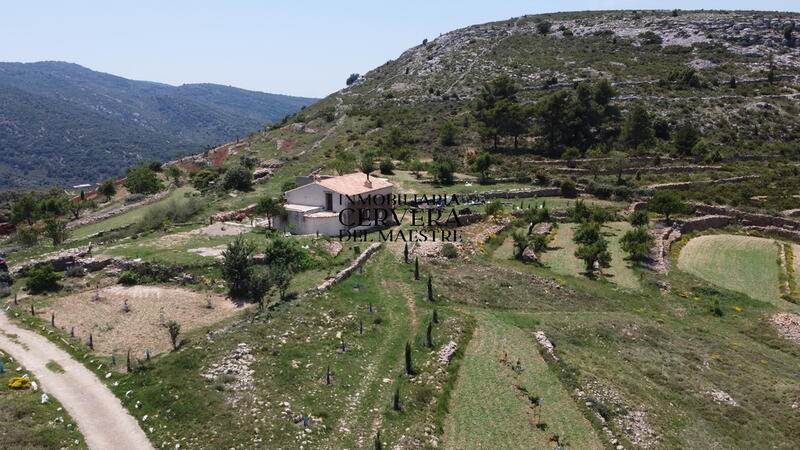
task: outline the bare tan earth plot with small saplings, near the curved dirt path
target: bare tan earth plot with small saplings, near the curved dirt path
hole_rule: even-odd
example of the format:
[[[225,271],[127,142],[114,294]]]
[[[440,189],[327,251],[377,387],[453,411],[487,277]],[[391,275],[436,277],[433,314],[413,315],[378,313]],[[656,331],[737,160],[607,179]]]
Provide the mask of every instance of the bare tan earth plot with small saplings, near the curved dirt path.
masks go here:
[[[100,299],[96,300],[96,292]],[[209,309],[208,301],[212,308]],[[123,311],[125,301],[129,312]],[[227,297],[214,293],[160,286],[109,286],[55,299],[43,311],[55,313],[56,325],[67,331],[75,327],[82,340],[92,333],[97,352],[160,353],[171,348],[169,333],[161,324],[174,320],[182,333],[205,327],[233,316],[240,308]]]

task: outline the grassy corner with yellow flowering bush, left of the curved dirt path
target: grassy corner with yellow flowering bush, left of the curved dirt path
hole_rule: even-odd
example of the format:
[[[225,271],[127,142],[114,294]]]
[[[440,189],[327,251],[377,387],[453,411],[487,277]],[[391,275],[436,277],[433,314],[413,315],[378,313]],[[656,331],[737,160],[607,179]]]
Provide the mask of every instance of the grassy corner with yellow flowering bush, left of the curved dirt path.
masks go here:
[[[16,362],[0,352],[5,373],[0,374],[0,446],[19,449],[85,449],[86,443],[77,426],[52,395],[47,404],[41,403],[41,390],[13,390],[8,387],[12,377],[27,375],[18,370]],[[48,366],[49,367],[49,366]]]

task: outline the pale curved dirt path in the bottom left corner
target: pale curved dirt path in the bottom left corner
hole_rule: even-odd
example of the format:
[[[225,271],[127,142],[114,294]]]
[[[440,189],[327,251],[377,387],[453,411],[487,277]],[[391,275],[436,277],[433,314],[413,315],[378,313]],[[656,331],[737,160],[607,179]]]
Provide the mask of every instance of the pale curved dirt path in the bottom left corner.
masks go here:
[[[42,390],[61,401],[89,448],[153,448],[136,420],[92,372],[44,337],[11,323],[2,313],[0,348],[33,372]],[[47,369],[45,365],[50,361],[61,365],[64,373]]]

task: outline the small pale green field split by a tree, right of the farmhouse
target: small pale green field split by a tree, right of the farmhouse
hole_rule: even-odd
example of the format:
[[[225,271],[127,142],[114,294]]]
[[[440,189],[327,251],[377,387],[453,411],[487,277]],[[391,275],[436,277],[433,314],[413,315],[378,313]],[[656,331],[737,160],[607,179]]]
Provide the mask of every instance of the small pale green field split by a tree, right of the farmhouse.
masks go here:
[[[542,263],[555,273],[580,275],[586,271],[583,261],[575,257],[575,250],[578,247],[572,238],[576,227],[576,224],[561,224],[555,239],[542,254]],[[602,270],[602,274],[608,281],[636,289],[639,287],[639,276],[631,267],[632,264],[624,259],[625,254],[619,245],[619,239],[629,229],[630,224],[627,222],[611,222],[603,225],[603,234],[608,239],[608,248],[611,252],[611,264]]]

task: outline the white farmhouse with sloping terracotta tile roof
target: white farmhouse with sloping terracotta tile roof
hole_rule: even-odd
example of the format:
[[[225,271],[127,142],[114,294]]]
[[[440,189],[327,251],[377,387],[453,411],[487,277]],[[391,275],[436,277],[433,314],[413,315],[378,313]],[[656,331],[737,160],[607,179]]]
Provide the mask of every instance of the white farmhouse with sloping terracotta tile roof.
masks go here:
[[[364,173],[314,176],[284,198],[287,214],[275,225],[294,234],[339,236],[386,225],[392,218],[392,184]]]

